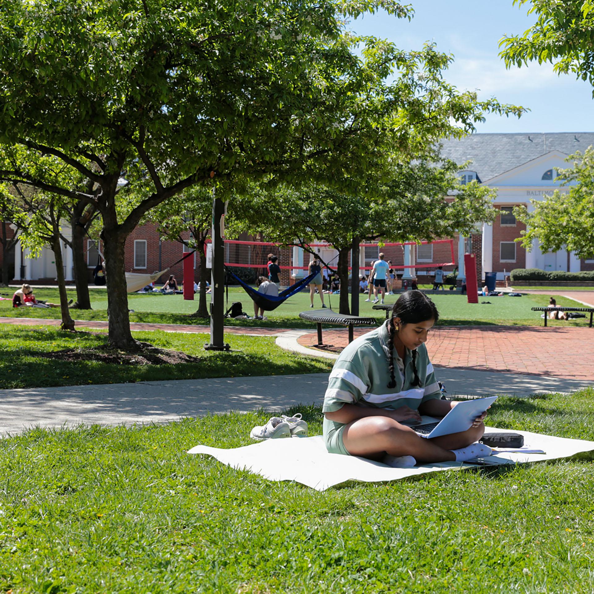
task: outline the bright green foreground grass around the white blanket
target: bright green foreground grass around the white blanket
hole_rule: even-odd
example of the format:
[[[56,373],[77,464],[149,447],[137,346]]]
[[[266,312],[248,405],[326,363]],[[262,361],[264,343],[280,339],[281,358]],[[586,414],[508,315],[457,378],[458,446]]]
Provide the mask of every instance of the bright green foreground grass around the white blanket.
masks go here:
[[[3,439],[0,591],[592,591],[591,454],[323,493],[185,454],[249,444],[266,419]],[[594,440],[594,390],[500,398],[489,424]]]

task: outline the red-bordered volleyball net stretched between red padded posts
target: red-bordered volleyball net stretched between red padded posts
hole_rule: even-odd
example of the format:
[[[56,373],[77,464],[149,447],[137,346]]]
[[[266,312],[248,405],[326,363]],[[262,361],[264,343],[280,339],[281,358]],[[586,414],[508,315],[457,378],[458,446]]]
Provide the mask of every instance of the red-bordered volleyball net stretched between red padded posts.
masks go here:
[[[434,269],[438,266],[456,265],[453,239],[421,243],[361,243],[359,247],[359,271],[362,274],[371,271],[380,253],[384,253],[384,259],[391,262],[391,268],[395,272],[403,272],[407,268]],[[308,269],[313,258],[312,252],[320,257],[324,266],[336,271],[338,252],[328,243],[312,243],[301,247],[267,241],[225,240],[225,265],[230,268],[252,269],[255,275],[267,275],[268,261],[271,256],[276,256],[277,264],[282,270],[294,271],[293,276],[301,276],[298,271]],[[352,269],[351,255],[349,253],[349,271]]]

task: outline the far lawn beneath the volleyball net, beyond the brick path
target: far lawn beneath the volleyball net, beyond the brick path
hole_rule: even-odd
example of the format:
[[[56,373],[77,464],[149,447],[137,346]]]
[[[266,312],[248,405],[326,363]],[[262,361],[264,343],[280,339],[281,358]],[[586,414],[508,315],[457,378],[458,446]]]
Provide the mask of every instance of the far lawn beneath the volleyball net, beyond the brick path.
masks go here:
[[[56,289],[37,289],[37,298],[58,302],[58,291]],[[68,291],[68,296],[76,298],[75,291]],[[375,316],[378,322],[385,318],[384,312],[372,310],[372,303],[364,301],[366,295],[360,296],[360,310],[362,316]],[[394,303],[398,296],[386,297],[386,303]],[[440,325],[540,325],[542,319],[539,313],[532,312],[531,307],[545,306],[548,304],[547,295],[528,295],[523,297],[479,297],[478,304],[467,303],[465,295],[453,295],[448,291],[444,295],[432,295],[438,310],[440,311]],[[339,296],[324,295],[326,304],[331,303],[335,311],[338,311]],[[229,289],[229,303],[241,301],[244,311],[252,315],[253,306],[251,299],[241,288]],[[481,304],[481,301],[491,301],[491,304]],[[72,310],[72,316],[79,320],[106,320],[107,319],[107,295],[105,290],[93,290],[91,292],[91,303],[93,310]],[[198,323],[208,324],[210,319],[188,318],[188,315],[198,309],[198,301],[184,301],[182,295],[140,295],[130,294],[128,296],[131,322],[148,323]],[[557,304],[560,306],[583,307],[571,299],[557,297]],[[314,306],[320,307],[320,297],[315,296]],[[267,326],[274,328],[312,328],[311,322],[299,319],[299,312],[309,309],[309,293],[299,293],[285,301],[273,312],[268,313],[268,320],[232,320],[226,321],[228,325],[237,326]],[[23,318],[60,318],[59,309],[37,309],[34,307],[21,307],[14,309],[12,302],[0,301],[0,316],[23,317]],[[570,320],[569,322],[555,322],[561,325],[583,325],[583,320]]]

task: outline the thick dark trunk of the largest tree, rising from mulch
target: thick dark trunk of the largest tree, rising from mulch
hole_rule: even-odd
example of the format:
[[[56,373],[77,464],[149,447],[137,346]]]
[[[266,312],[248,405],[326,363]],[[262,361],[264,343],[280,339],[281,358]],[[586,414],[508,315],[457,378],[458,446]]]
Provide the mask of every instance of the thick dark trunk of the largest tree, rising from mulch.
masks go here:
[[[114,214],[115,218],[115,214]],[[123,351],[137,351],[138,343],[130,332],[128,314],[128,291],[124,260],[126,235],[114,229],[117,223],[103,218],[103,254],[105,255],[105,279],[108,290],[108,344]]]

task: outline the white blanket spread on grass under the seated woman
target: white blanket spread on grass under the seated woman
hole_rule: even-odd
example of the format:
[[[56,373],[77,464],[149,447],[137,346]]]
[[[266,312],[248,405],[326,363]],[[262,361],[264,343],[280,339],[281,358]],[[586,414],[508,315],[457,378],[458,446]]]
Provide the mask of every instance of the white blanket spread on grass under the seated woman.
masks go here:
[[[501,431],[494,428],[487,428],[487,430]],[[522,464],[567,458],[579,452],[594,450],[594,441],[566,439],[529,431],[514,432],[522,433],[525,445],[531,450],[544,450],[545,454],[499,452],[486,457],[486,462]],[[188,450],[188,454],[211,455],[235,469],[246,469],[270,480],[295,480],[317,491],[324,491],[347,480],[381,482],[405,479],[438,470],[476,468],[475,465],[459,462],[424,464],[413,468],[391,468],[386,464],[372,462],[358,456],[328,454],[321,435],[309,438],[268,439],[258,444],[227,450],[197,445]]]

